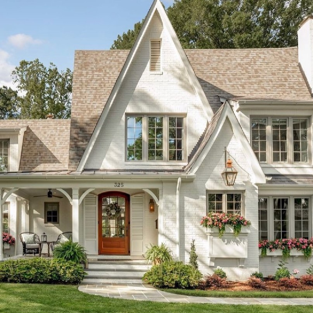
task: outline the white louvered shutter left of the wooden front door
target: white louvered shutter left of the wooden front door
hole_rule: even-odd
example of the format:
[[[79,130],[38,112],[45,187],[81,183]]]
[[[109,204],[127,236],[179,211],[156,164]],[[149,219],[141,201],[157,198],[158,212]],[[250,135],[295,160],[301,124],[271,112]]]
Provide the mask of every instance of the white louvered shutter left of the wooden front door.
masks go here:
[[[84,199],[85,249],[89,254],[98,254],[97,199],[98,197],[91,193]]]

